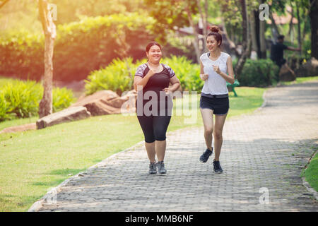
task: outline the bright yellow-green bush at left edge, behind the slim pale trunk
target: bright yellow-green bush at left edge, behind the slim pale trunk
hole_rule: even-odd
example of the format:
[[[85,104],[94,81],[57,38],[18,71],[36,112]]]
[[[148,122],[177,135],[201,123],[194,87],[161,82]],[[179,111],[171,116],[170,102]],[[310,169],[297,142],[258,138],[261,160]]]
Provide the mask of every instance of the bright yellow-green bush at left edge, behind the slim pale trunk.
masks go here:
[[[12,80],[1,86],[0,121],[37,116],[43,87],[35,81]],[[53,88],[53,112],[69,107],[73,93],[66,88]]]

